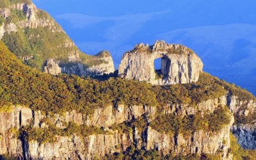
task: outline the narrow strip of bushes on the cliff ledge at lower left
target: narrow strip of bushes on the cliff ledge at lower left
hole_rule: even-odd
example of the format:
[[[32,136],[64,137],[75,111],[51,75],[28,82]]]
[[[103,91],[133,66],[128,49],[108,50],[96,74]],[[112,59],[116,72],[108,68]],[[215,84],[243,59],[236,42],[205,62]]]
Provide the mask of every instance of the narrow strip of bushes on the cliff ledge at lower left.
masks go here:
[[[92,134],[106,134],[106,131],[94,126],[77,125],[69,122],[67,127],[60,129],[52,124],[47,124],[45,128],[35,128],[33,125],[22,127],[19,131],[19,138],[26,141],[38,141],[40,145],[44,143],[54,143],[57,136],[71,136],[77,134],[79,136],[90,136]]]

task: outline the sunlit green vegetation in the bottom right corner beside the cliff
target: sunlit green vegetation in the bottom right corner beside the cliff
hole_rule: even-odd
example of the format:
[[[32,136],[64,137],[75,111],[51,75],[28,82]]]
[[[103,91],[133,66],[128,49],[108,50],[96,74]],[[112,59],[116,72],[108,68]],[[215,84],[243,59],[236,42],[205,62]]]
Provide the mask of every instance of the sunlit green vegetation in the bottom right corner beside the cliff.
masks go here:
[[[237,143],[237,139],[233,134],[230,134],[230,150],[229,152],[233,154],[233,159],[236,160],[254,160],[256,157],[256,150],[244,150]]]

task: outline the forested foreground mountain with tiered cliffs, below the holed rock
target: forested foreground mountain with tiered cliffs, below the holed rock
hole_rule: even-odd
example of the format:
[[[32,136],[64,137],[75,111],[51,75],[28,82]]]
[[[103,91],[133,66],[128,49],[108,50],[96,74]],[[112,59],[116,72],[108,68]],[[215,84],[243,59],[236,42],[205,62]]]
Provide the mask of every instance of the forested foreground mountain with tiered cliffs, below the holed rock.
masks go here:
[[[162,86],[114,75],[51,76],[24,65],[3,42],[0,60],[1,159],[256,156],[255,97],[205,72],[193,83]]]

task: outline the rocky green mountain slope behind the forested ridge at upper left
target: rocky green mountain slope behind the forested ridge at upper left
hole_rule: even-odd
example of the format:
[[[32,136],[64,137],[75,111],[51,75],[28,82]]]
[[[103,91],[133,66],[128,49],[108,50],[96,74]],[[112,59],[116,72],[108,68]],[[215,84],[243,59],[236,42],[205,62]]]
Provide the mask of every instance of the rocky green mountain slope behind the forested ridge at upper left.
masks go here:
[[[97,76],[115,71],[109,52],[90,56],[79,51],[61,26],[29,0],[0,1],[0,40],[26,65],[45,72],[52,70],[47,63],[60,67],[56,74]]]

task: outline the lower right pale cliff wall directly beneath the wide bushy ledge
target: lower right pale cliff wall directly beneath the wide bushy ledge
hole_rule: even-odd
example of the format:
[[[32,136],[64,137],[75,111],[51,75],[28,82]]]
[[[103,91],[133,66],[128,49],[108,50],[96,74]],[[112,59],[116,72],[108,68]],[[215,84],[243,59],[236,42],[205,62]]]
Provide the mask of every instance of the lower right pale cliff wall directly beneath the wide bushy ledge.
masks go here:
[[[222,152],[223,159],[227,158],[228,148],[230,148],[230,127],[234,122],[234,118],[227,125],[221,129],[220,132],[212,133],[205,131],[193,132],[189,135],[165,134],[157,132],[148,127],[147,129],[147,150],[157,149],[161,150],[163,154],[216,154],[218,151]]]

